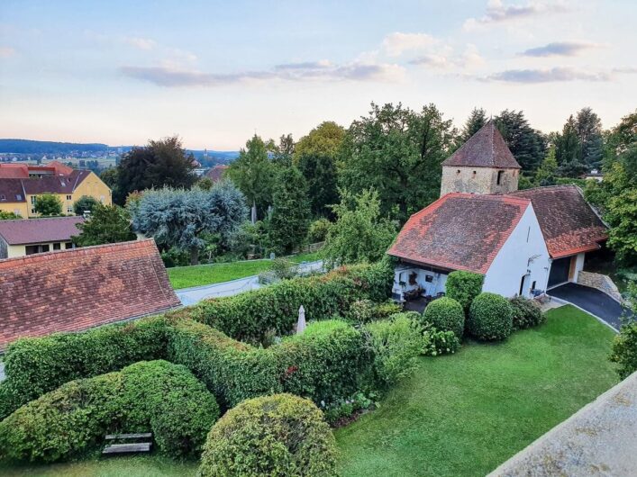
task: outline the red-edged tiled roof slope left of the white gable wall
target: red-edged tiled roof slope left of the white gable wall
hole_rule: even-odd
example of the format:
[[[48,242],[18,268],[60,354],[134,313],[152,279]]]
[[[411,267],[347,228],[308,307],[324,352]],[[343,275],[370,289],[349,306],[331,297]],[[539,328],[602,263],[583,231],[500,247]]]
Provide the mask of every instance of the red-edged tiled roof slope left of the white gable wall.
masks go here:
[[[448,193],[412,215],[387,254],[486,274],[529,204],[510,195]]]

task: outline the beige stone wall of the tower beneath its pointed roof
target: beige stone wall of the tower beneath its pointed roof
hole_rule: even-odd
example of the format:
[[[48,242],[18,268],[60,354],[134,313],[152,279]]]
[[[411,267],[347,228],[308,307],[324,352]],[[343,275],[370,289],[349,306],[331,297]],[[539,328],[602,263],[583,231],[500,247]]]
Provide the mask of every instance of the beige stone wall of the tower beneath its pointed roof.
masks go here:
[[[497,172],[504,171],[500,184]],[[441,196],[446,193],[510,193],[517,190],[519,171],[491,167],[443,166]]]

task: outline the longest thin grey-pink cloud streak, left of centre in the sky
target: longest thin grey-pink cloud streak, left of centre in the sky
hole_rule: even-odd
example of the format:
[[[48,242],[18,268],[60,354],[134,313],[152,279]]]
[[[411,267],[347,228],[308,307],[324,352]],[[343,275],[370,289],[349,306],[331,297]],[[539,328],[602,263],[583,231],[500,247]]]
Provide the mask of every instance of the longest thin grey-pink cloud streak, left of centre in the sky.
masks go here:
[[[351,80],[396,81],[402,78],[405,68],[391,64],[349,63],[331,65],[323,61],[278,65],[271,71],[245,71],[241,73],[203,73],[177,67],[121,67],[123,76],[147,81],[159,86],[221,86],[250,81],[287,80]]]

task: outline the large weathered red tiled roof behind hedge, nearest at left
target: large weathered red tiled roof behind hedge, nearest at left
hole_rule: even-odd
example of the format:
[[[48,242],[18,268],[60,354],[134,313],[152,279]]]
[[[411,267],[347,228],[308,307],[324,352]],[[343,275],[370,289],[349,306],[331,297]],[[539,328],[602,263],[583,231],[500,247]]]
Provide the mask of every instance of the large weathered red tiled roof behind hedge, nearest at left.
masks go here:
[[[0,260],[0,349],[178,305],[152,239]]]

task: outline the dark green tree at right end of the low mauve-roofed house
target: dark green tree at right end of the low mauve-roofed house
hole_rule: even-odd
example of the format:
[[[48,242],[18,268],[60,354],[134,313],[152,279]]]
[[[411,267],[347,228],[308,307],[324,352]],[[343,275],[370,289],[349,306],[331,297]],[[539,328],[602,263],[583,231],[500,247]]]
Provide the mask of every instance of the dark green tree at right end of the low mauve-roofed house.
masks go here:
[[[79,229],[79,235],[71,239],[80,247],[114,244],[135,239],[131,229],[130,214],[117,205],[103,205],[96,202],[89,218],[83,223],[78,223],[77,229]]]

